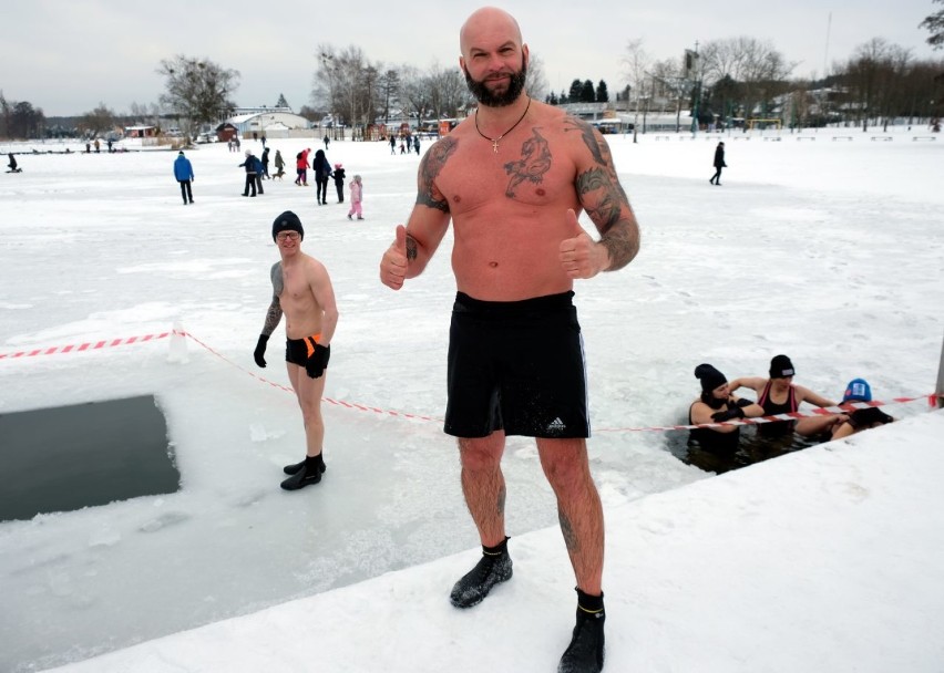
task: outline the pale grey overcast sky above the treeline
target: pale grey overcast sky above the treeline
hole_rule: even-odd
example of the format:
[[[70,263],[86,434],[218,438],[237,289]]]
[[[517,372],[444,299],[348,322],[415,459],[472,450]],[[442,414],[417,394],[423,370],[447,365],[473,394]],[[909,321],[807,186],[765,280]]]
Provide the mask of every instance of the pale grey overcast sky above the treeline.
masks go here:
[[[882,7],[874,7],[881,4]],[[630,40],[657,59],[748,35],[769,40],[794,75],[822,74],[881,37],[917,58],[944,56],[917,24],[941,9],[932,0],[510,0],[499,4],[521,23],[524,40],[544,62],[554,91],[574,79],[625,85],[622,63]],[[360,46],[383,65],[453,66],[459,28],[479,2],[265,2],[166,0],[146,9],[119,0],[4,2],[0,90],[47,116],[81,114],[100,102],[115,112],[157,101],[162,59],[208,58],[239,71],[238,105],[275,105],[284,93],[298,110],[310,103],[319,44]],[[449,8],[449,9],[445,9]],[[830,21],[830,15],[831,21]]]

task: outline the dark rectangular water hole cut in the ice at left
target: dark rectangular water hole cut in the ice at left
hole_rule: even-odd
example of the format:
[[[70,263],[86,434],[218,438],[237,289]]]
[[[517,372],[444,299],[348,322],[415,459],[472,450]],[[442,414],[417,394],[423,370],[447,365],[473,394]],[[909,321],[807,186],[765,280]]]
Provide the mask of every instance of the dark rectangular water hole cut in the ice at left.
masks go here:
[[[0,414],[0,438],[3,521],[181,488],[153,395]]]

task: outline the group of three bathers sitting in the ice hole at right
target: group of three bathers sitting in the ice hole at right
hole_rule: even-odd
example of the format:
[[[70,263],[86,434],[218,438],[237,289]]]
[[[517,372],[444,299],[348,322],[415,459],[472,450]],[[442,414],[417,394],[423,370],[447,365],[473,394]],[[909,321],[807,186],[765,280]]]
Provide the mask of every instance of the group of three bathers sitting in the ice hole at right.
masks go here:
[[[842,401],[837,403],[794,384],[794,375],[793,363],[787,355],[773,356],[768,376],[745,376],[730,382],[712,365],[699,364],[695,367],[695,377],[701,384],[701,394],[689,406],[688,423],[710,426],[692,428],[689,444],[710,453],[731,455],[739,448],[741,426],[726,422],[797,413],[803,402],[824,408],[872,401],[871,386],[864,379],[850,381]],[[742,387],[752,390],[756,401],[736,396],[735,392]],[[828,442],[892,421],[880,408],[849,406],[848,413],[758,423],[757,436],[759,441],[771,443],[789,443],[794,434],[811,442]]]

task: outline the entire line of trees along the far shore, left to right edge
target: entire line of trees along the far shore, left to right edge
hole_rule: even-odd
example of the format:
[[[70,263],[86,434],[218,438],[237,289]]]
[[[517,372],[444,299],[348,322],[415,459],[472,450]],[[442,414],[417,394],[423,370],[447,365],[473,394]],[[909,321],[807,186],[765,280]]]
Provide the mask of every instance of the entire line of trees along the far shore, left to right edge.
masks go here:
[[[944,0],[933,0],[944,4]],[[944,48],[944,10],[920,24],[927,42]],[[312,122],[329,116],[347,126],[410,116],[418,121],[448,118],[474,105],[462,73],[433,63],[413,65],[371,62],[359,46],[336,49],[319,44],[315,54],[311,105],[299,114]],[[844,63],[817,81],[791,79],[797,63],[788,62],[772,43],[740,37],[706,43],[685,60],[649,58],[639,40],[628,43],[623,59],[624,101],[645,115],[650,111],[697,111],[700,123],[715,120],[778,116],[784,123],[821,125],[830,122],[887,124],[895,117],[941,117],[944,113],[944,62],[915,60],[911,50],[875,38],[860,45]],[[161,61],[166,79],[160,105],[132,104],[130,115],[116,115],[104,103],[81,115],[76,128],[50,128],[42,108],[7,101],[0,91],[0,137],[49,137],[65,131],[98,135],[119,120],[144,122],[167,116],[193,136],[236,107],[232,100],[239,73],[206,59],[177,55]],[[532,53],[527,92],[551,104],[609,101],[606,82],[574,80],[570,91],[547,92],[542,60]],[[279,100],[279,105],[284,96]]]

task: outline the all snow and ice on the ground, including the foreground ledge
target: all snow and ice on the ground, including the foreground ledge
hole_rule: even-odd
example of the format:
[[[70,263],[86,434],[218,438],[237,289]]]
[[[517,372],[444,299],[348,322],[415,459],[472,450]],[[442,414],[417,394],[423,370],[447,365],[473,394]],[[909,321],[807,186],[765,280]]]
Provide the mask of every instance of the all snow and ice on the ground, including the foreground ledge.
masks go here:
[[[940,669],[944,467],[940,446],[928,451],[940,413],[894,405],[903,423],[722,477],[673,457],[666,433],[627,429],[684,423],[699,362],[760,375],[782,352],[797,382],[825,396],[856,376],[879,400],[932,392],[944,141],[915,135],[930,134],[726,135],[722,187],[708,185],[717,136],[607,138],[643,230],[633,265],[576,286],[607,514],[607,671]],[[270,145],[290,163],[317,142]],[[469,613],[454,614],[448,592],[474,563],[478,537],[439,423],[327,404],[324,482],[278,488],[281,466],[304,452],[300,413],[290,393],[247,372],[287,385],[281,328],[269,366],[252,360],[281,210],[300,216],[304,249],[325,261],[338,296],[326,397],[431,417],[444,408],[449,239],[401,292],[378,280],[419,157],[383,143],[337,142],[327,154],[363,176],[363,221],[347,220],[334,194],[317,206],[314,188],[290,179],[242,198],[240,155],[224,145],[187,152],[196,203],[186,207],[173,153],[21,155],[24,172],[2,176],[0,353],[175,323],[213,352],[188,339],[185,356],[158,340],[0,360],[0,413],[155,395],[182,474],[176,494],[0,524],[0,670],[79,662],[211,622],[75,670],[214,670],[214,642],[228,671],[258,670],[264,655],[306,670],[309,635],[324,670],[406,671],[412,655],[418,670],[476,671],[486,642],[514,658],[507,670],[553,670],[575,599],[532,441],[511,439],[504,460],[515,577]],[[810,568],[820,570],[803,583]],[[851,593],[828,602],[831,582]],[[366,639],[358,622],[392,629],[390,641]],[[341,650],[357,651],[350,667]]]

